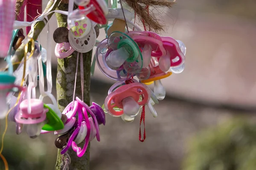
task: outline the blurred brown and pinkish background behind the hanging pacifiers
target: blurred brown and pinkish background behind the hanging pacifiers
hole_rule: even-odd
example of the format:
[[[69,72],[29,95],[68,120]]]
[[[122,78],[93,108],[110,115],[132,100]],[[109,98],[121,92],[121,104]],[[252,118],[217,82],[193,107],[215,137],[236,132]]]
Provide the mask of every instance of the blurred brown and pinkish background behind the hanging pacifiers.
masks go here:
[[[43,0],[43,9],[46,4],[47,0]],[[125,123],[121,118],[106,115],[106,125],[100,127],[101,142],[91,142],[90,170],[255,170],[255,163],[246,168],[233,166],[233,163],[226,166],[227,162],[241,157],[227,159],[227,153],[232,152],[217,152],[233,144],[229,142],[229,134],[238,126],[240,136],[255,136],[256,128],[247,123],[253,124],[256,120],[255,9],[255,0],[177,0],[173,8],[163,9],[166,25],[163,35],[181,40],[186,45],[185,70],[162,80],[166,98],[154,105],[157,118],[146,110],[145,142],[138,140],[140,116],[132,123]],[[57,28],[55,16],[51,18],[50,26],[53,33]],[[47,45],[46,33],[45,28],[41,34],[43,47]],[[98,40],[104,37],[102,30]],[[57,59],[52,48],[54,95],[56,69]],[[96,65],[91,77],[91,102],[102,105],[113,83]],[[239,119],[239,123],[234,123],[233,118]],[[227,128],[226,125],[230,126]],[[244,131],[247,126],[250,130]],[[1,134],[3,130],[4,121],[1,120]],[[198,136],[201,131],[206,132]],[[222,136],[218,139],[226,141],[224,145],[215,142],[219,133]],[[238,141],[243,146],[251,147],[243,150],[243,156],[250,155],[250,160],[256,162],[256,152],[250,152],[256,148],[253,138],[242,138],[247,139],[245,142],[241,138]],[[15,124],[9,122],[3,150],[9,169],[54,169],[57,156],[55,139],[53,134],[41,135],[37,139],[29,139],[26,132],[17,136]],[[199,148],[205,149],[199,151]],[[203,159],[207,157],[204,151],[215,155]],[[209,166],[209,162],[215,163]],[[0,168],[3,168],[2,161]]]

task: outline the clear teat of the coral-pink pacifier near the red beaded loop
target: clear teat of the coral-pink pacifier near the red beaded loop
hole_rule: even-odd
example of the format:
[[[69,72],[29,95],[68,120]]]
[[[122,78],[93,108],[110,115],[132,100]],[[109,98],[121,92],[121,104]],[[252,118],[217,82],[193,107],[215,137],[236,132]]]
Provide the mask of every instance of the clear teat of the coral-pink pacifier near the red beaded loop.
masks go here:
[[[123,104],[123,112],[128,116],[136,116],[137,113],[140,111],[139,104],[131,96],[123,99],[122,104]]]

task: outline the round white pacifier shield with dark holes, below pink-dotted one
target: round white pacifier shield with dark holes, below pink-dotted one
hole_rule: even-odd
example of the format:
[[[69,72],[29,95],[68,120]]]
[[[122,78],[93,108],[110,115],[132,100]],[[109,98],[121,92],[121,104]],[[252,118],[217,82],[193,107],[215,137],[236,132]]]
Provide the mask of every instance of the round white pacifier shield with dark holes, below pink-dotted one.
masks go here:
[[[80,53],[87,53],[92,50],[96,44],[96,32],[93,27],[91,27],[90,32],[82,38],[76,38],[73,36],[72,32],[68,33],[68,40],[70,45]]]

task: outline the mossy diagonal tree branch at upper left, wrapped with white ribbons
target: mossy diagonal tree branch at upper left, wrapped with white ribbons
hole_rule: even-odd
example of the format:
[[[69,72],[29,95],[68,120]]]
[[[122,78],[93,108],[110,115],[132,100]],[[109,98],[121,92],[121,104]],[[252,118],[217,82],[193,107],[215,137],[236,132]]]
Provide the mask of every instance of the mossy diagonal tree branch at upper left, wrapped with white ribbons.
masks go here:
[[[61,2],[61,0],[57,0],[51,11],[54,11],[57,8],[57,6],[60,2]],[[53,5],[53,3],[54,3],[54,0],[49,0],[49,2],[47,4],[47,7],[45,8],[44,12],[47,12],[48,9]],[[52,14],[49,14],[47,16],[48,19],[50,19],[52,17]],[[39,34],[44,29],[44,26],[45,26],[44,21],[39,21],[35,24],[34,33],[33,33],[33,37],[32,37],[33,40],[38,39]],[[28,35],[31,35],[31,34],[32,34],[32,31],[30,31]],[[22,43],[20,45],[20,47],[16,50],[15,55],[11,59],[12,63],[22,61],[22,59],[24,57],[25,45],[26,44]],[[31,48],[31,45],[29,44],[29,50],[30,50],[30,48]],[[15,71],[17,69],[17,67],[18,67],[18,65],[13,65],[13,71]]]

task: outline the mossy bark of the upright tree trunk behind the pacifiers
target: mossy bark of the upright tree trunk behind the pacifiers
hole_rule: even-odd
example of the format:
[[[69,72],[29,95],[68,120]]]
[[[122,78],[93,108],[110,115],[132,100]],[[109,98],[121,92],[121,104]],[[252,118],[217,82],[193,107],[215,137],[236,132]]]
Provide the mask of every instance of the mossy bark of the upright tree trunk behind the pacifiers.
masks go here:
[[[68,4],[60,3],[58,6],[59,10],[67,11]],[[63,14],[55,14],[58,20],[58,26],[67,27],[67,16]],[[57,90],[57,101],[58,106],[61,111],[73,101],[73,91],[74,83],[76,77],[76,58],[77,51],[73,52],[69,57],[65,59],[58,59],[57,67],[57,79],[56,79],[56,90]],[[92,51],[83,54],[84,62],[84,102],[87,105],[90,104],[90,65],[91,65]],[[78,66],[78,73],[76,79],[76,96],[81,99],[81,75],[80,75],[80,61]],[[80,147],[84,145],[84,142],[79,144]],[[76,152],[70,149],[67,151],[71,158],[71,164],[69,165],[70,170],[89,170],[90,162],[90,144],[87,147],[87,151],[82,157],[78,157]],[[62,170],[62,155],[60,150],[58,150],[57,162],[55,165],[55,170]]]

